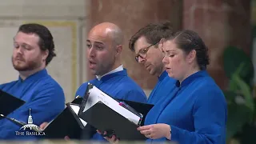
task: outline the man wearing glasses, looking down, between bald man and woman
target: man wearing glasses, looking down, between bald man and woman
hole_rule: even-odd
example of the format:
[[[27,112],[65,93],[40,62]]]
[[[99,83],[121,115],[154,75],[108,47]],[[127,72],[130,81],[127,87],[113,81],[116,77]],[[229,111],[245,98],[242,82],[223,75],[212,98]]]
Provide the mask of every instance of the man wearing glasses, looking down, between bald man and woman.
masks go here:
[[[135,53],[135,60],[151,75],[158,76],[158,83],[150,93],[148,103],[155,104],[174,90],[176,80],[168,77],[162,63],[164,54],[160,41],[166,34],[173,33],[170,22],[150,23],[130,38],[129,48]]]

